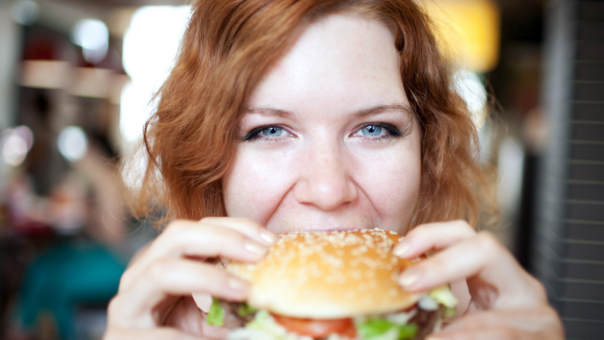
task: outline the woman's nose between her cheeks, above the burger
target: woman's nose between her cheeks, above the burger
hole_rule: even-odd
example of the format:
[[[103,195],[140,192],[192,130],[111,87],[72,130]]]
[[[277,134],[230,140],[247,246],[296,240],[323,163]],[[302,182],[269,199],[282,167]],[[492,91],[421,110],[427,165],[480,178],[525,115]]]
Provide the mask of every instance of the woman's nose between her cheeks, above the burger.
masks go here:
[[[340,147],[323,145],[310,148],[301,159],[300,172],[294,195],[302,204],[332,211],[357,197],[347,158]]]

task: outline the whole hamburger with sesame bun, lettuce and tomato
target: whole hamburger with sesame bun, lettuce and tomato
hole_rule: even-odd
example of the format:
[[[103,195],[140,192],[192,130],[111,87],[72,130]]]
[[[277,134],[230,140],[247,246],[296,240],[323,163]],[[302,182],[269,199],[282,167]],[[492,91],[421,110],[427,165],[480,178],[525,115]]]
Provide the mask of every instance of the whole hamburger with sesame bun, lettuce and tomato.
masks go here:
[[[417,260],[393,255],[401,236],[382,229],[279,235],[257,263],[226,270],[251,283],[248,301],[214,300],[208,323],[230,340],[423,339],[457,301],[448,286],[427,293],[397,278]]]

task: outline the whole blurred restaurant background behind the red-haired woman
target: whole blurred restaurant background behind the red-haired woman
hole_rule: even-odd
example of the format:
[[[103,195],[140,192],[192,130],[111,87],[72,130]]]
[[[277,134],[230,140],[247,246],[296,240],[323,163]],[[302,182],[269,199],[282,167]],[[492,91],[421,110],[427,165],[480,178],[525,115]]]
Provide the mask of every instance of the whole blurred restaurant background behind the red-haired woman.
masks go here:
[[[604,339],[604,1],[422,3],[498,171],[485,228],[545,284],[568,339]],[[189,8],[0,0],[0,338],[100,339],[157,234],[127,214],[116,165]]]

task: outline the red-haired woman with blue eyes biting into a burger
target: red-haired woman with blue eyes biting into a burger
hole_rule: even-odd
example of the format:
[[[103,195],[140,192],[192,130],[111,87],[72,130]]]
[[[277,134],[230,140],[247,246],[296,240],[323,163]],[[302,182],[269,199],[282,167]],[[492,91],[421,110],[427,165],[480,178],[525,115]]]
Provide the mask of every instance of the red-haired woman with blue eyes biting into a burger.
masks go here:
[[[413,1],[198,1],[159,95],[138,202],[170,223],[123,275],[106,339],[220,338],[210,296],[247,283],[214,258],[374,227],[406,234],[402,257],[439,251],[400,277],[453,283],[460,316],[435,337],[562,339],[541,284],[471,226],[475,127]]]

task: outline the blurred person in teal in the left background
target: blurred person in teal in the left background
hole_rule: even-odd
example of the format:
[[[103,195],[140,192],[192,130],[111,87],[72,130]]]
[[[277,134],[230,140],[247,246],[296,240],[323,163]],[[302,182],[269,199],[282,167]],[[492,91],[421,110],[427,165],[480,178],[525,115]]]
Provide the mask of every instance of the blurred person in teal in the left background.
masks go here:
[[[47,245],[25,269],[8,339],[99,338],[100,334],[87,332],[104,329],[102,317],[92,320],[103,322],[100,326],[77,324],[82,310],[104,315],[129,257],[123,198],[111,153],[103,145],[93,139],[86,155],[54,185],[48,198],[38,198],[46,203],[37,208],[27,204],[33,189],[27,189],[25,175],[10,186],[13,228],[35,223],[48,231]],[[21,199],[16,199],[18,193]],[[25,203],[15,207],[19,202]]]

